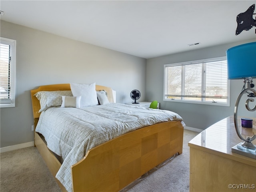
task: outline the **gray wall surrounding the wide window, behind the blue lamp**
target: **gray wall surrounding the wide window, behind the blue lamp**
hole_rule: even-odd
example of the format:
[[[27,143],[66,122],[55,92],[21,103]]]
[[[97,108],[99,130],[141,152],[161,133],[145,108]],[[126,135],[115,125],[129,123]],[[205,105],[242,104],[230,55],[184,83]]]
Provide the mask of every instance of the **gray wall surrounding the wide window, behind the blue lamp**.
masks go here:
[[[164,64],[226,56],[228,48],[254,41],[256,39],[148,59],[146,66],[146,99],[149,101],[158,100],[161,109],[172,110],[180,114],[186,126],[202,130],[223,118],[232,116],[236,98],[244,85],[243,80],[231,80],[230,82],[230,107],[163,101]],[[256,86],[256,79],[254,79],[254,84]],[[248,112],[245,109],[246,99],[246,96],[241,99],[238,115],[256,117],[256,112]],[[251,106],[251,108],[253,107]]]

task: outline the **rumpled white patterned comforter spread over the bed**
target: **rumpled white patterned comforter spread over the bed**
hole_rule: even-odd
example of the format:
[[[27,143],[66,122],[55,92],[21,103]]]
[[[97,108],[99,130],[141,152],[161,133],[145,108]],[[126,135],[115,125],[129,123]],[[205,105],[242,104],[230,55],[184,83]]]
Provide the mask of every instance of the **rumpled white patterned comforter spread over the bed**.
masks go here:
[[[41,113],[36,132],[44,136],[50,150],[62,156],[64,161],[56,178],[71,192],[71,166],[89,149],[132,130],[165,121],[182,122],[182,118],[167,110],[116,103],[84,108],[53,107]]]

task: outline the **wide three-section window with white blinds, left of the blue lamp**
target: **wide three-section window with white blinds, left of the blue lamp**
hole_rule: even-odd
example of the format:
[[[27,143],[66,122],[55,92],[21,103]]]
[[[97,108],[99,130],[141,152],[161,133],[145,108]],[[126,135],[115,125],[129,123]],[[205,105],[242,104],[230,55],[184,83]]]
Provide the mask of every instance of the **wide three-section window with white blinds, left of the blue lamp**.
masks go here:
[[[230,106],[226,57],[164,65],[164,100]]]

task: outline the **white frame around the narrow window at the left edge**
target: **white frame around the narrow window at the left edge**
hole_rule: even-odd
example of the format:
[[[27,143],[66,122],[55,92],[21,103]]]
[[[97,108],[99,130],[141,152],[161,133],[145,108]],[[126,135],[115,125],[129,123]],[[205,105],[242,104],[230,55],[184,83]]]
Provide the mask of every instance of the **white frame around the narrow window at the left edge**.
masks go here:
[[[16,40],[0,37],[1,44],[11,46],[11,63],[10,63],[10,99],[0,99],[0,108],[15,107],[15,84],[16,84]]]

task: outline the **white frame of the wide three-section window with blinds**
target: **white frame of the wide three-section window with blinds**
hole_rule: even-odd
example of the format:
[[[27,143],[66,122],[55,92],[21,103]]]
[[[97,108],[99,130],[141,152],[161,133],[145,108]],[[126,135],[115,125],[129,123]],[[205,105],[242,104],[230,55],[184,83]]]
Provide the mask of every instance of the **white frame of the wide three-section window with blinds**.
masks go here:
[[[230,106],[230,80],[228,80],[228,78],[227,78],[227,99],[226,99],[226,102],[206,101],[205,98],[202,98],[201,100],[184,100],[184,98],[171,99],[171,98],[167,98],[167,96],[166,96],[166,67],[175,66],[175,65],[182,65],[182,64],[196,64],[196,63],[202,63],[202,62],[209,62],[209,61],[213,61],[213,60],[226,60],[226,56],[218,57],[218,58],[209,58],[209,59],[188,61],[188,62],[173,63],[173,64],[165,64],[164,65],[164,93],[163,93],[164,98],[163,98],[163,100],[164,101],[170,101],[170,102],[206,104],[206,105],[214,105],[214,106]],[[202,76],[204,76],[203,72],[202,72]],[[202,79],[204,79],[204,78],[202,78]],[[204,83],[203,80],[201,80],[201,84],[203,84],[203,83]],[[184,84],[184,74],[182,74],[180,84]]]

